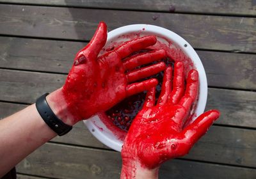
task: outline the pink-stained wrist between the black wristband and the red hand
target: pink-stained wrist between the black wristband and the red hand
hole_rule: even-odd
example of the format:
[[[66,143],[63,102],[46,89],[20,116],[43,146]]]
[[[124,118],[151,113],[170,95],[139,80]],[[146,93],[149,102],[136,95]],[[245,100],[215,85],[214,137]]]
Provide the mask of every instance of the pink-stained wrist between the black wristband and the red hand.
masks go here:
[[[74,125],[76,120],[74,116],[68,111],[68,104],[65,101],[61,89],[53,91],[46,97],[47,103],[51,107],[53,113],[67,125]]]

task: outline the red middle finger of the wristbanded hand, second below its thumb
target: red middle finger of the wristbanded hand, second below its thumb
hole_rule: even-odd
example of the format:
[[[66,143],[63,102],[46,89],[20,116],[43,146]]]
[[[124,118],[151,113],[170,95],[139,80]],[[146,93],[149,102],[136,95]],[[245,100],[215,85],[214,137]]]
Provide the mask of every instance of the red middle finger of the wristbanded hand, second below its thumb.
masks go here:
[[[166,56],[164,50],[145,52],[143,54],[138,54],[136,56],[132,56],[129,59],[126,59],[123,63],[125,70],[132,70],[133,68],[141,65],[145,65],[147,63],[152,63],[153,61],[157,61]]]

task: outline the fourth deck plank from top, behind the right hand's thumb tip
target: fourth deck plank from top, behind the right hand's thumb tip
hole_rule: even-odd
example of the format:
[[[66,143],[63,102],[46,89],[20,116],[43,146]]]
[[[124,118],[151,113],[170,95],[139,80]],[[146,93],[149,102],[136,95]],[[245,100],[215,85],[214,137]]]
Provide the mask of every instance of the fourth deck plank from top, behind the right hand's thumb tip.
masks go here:
[[[43,93],[60,88],[65,77],[66,75],[2,69],[0,100],[32,104]],[[209,88],[207,109],[220,109],[221,118],[218,123],[256,128],[255,92]]]

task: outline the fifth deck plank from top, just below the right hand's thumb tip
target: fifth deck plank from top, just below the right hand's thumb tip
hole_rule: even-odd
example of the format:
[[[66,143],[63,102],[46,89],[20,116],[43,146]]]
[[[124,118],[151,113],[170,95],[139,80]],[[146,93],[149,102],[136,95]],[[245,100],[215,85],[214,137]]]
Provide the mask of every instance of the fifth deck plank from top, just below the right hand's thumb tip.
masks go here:
[[[195,144],[189,155],[186,155],[184,159],[256,167],[255,137],[255,130],[213,126]],[[108,148],[97,141],[82,122],[77,123],[67,135],[55,137],[52,141],[95,148]]]

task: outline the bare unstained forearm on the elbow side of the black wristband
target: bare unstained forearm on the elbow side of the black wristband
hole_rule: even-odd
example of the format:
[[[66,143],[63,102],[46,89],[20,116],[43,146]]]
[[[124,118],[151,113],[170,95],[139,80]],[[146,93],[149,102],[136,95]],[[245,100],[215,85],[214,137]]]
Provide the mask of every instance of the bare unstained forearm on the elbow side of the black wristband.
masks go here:
[[[0,131],[0,178],[57,135],[42,120],[35,104],[1,120]]]

